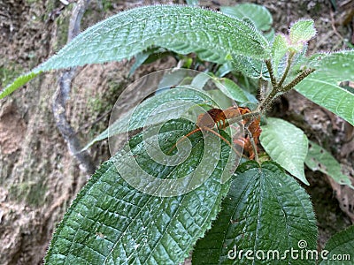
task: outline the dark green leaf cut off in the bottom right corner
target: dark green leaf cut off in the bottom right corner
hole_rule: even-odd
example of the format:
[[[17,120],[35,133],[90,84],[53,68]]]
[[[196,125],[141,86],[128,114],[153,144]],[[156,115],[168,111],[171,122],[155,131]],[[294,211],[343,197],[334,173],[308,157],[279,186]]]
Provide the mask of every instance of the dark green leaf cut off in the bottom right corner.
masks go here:
[[[335,234],[327,241],[322,251],[320,265],[327,264],[353,264],[354,225]]]

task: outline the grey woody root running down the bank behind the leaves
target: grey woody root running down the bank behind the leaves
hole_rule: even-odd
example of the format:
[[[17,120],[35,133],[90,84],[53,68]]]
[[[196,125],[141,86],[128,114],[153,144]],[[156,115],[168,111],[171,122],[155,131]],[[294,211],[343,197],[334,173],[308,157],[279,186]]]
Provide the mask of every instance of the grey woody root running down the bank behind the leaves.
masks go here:
[[[68,41],[80,33],[80,24],[82,16],[89,5],[89,0],[79,0],[76,4],[69,24]],[[81,152],[81,144],[77,139],[73,128],[69,124],[65,115],[65,104],[70,94],[73,76],[75,75],[76,67],[65,70],[59,78],[59,86],[53,96],[52,110],[54,119],[61,135],[63,136],[71,155],[73,155],[88,174],[94,173],[96,167],[92,162],[88,152]]]

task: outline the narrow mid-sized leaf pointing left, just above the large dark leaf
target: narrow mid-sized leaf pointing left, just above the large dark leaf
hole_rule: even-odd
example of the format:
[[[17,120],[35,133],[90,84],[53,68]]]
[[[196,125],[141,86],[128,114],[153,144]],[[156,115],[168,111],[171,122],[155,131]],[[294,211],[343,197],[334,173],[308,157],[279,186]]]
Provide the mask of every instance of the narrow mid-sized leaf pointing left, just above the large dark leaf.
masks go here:
[[[175,78],[178,77],[175,76]],[[91,140],[82,151],[91,147],[96,141],[108,139],[113,135],[127,133],[144,126],[157,125],[181,117],[193,105],[197,104],[212,105],[216,103],[212,101],[209,95],[191,87],[173,87],[173,89],[162,91],[142,102],[134,110],[128,111],[123,117],[115,120],[103,133]]]

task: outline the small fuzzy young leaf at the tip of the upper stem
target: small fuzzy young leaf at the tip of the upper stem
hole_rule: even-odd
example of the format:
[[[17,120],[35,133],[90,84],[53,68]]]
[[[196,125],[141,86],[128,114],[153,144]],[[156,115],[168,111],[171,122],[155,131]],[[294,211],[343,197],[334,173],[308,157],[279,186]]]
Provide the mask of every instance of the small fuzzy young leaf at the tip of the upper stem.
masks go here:
[[[299,20],[290,27],[289,41],[295,48],[299,46],[300,51],[305,42],[310,41],[316,35],[316,29],[312,19]]]

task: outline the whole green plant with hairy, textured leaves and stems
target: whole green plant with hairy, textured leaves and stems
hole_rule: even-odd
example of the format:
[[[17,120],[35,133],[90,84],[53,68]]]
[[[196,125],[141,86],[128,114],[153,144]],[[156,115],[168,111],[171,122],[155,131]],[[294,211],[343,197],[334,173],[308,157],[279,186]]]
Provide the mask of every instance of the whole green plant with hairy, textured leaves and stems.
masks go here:
[[[86,148],[119,133],[142,132],[127,140],[73,201],[50,243],[47,264],[176,264],[189,256],[196,240],[211,227],[196,245],[194,263],[248,264],[244,255],[240,260],[227,258],[235,246],[253,254],[316,250],[311,201],[284,170],[306,185],[304,162],[353,187],[350,179],[339,173],[340,165],[330,154],[314,143],[308,149],[304,132],[279,118],[265,118],[260,134],[266,154],[278,164],[260,163],[255,141],[260,133],[258,118],[263,120],[277,96],[295,87],[354,125],[354,93],[341,87],[342,81],[354,80],[354,50],[306,57],[307,42],[316,34],[311,19],[297,21],[289,35],[274,37],[273,19],[264,7],[238,4],[220,10],[225,14],[178,5],[120,12],[89,27],[1,91],[0,99],[41,72],[134,56],[130,73],[171,54],[183,66],[203,65],[207,72],[165,73],[153,94],[150,91],[142,102],[132,103],[132,109],[89,143]],[[207,87],[209,80],[212,87]],[[259,102],[256,93],[250,94],[253,87],[260,94]],[[251,110],[237,121],[248,135],[232,139],[230,133],[240,128],[230,121],[240,119],[233,112],[235,106],[228,112],[210,109],[227,109],[235,102]],[[199,110],[209,110],[212,120],[197,119]],[[230,119],[224,120],[222,113]],[[230,124],[227,132],[221,130]],[[242,160],[228,181],[238,166],[232,142],[249,155],[253,150],[256,161]],[[347,251],[352,238],[352,229],[345,231],[329,240],[327,249],[334,254]],[[281,261],[314,263],[289,256]]]

